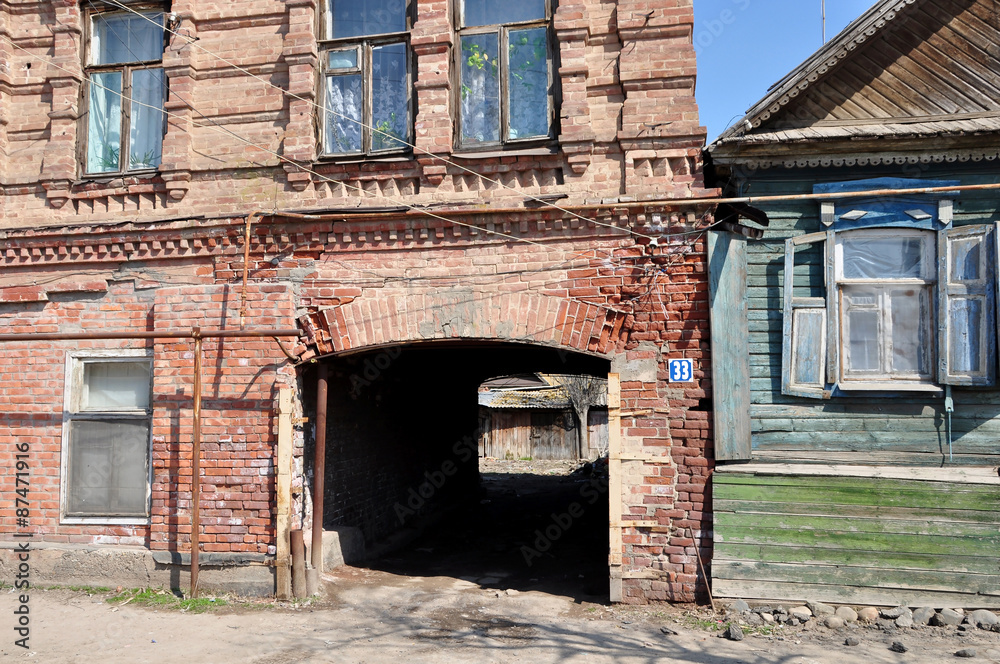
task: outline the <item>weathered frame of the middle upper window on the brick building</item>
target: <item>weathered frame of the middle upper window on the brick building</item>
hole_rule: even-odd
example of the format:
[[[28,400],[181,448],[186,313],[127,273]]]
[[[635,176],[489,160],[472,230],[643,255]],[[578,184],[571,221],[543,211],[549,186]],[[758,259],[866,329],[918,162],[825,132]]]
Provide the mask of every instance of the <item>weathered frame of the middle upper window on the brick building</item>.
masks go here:
[[[412,148],[409,144],[413,143],[413,105],[414,105],[414,94],[413,94],[413,56],[410,49],[410,30],[411,30],[411,4],[410,0],[402,0],[405,5],[405,22],[404,29],[397,32],[386,32],[386,33],[373,33],[360,35],[356,37],[342,37],[334,39],[331,35],[333,30],[333,11],[332,3],[334,0],[321,0],[322,2],[322,12],[321,12],[321,39],[319,44],[320,50],[320,90],[319,96],[322,100],[320,111],[321,116],[319,119],[319,132],[320,132],[320,156],[326,158],[339,158],[339,159],[365,159],[365,158],[377,158],[377,157],[392,157],[398,156],[401,153],[407,153]],[[372,49],[376,49],[382,46],[391,46],[394,44],[401,44],[406,52],[406,89],[407,89],[407,104],[406,104],[406,136],[401,140],[402,142],[397,147],[388,147],[385,149],[377,150],[373,146],[373,135],[375,134],[374,126],[374,109],[372,104]],[[356,66],[348,68],[331,68],[330,67],[330,54],[337,51],[349,51],[355,50],[356,52]],[[329,81],[339,75],[359,75],[361,76],[361,90],[362,90],[362,108],[361,108],[361,149],[354,152],[341,152],[331,149],[331,146],[327,145],[327,123],[329,121],[329,114],[326,110],[327,104],[327,85]]]

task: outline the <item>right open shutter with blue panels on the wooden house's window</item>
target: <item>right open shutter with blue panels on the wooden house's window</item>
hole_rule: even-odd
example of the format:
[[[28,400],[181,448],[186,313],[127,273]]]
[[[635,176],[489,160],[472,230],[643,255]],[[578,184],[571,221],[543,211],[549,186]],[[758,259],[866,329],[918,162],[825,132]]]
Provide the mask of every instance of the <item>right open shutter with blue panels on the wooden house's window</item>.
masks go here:
[[[938,236],[938,382],[996,384],[996,263],[993,224]]]

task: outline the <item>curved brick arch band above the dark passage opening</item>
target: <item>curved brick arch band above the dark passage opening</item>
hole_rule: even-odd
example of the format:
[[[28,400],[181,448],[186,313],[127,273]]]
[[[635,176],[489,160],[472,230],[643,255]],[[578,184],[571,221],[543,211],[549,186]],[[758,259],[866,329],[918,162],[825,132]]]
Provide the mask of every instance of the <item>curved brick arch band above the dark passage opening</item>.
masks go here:
[[[532,343],[610,355],[624,343],[626,318],[564,295],[455,288],[383,292],[320,310],[303,322],[309,342],[324,355],[445,339]]]

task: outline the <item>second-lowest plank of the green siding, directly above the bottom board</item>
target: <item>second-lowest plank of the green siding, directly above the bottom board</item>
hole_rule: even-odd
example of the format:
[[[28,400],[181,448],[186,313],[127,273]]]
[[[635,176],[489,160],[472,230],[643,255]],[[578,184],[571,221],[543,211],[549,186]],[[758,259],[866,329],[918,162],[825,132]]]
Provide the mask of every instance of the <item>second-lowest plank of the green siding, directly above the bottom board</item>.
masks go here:
[[[965,592],[1000,596],[1000,575],[843,565],[712,561],[713,579],[835,584],[883,590]]]

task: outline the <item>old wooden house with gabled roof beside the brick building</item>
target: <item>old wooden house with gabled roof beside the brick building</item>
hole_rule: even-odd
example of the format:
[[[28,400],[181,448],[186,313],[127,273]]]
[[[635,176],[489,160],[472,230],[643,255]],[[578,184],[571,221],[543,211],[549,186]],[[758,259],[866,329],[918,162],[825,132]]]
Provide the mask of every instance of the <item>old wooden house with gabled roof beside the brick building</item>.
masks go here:
[[[876,3],[708,153],[770,219],[710,239],[716,595],[1000,606],[995,3]]]

